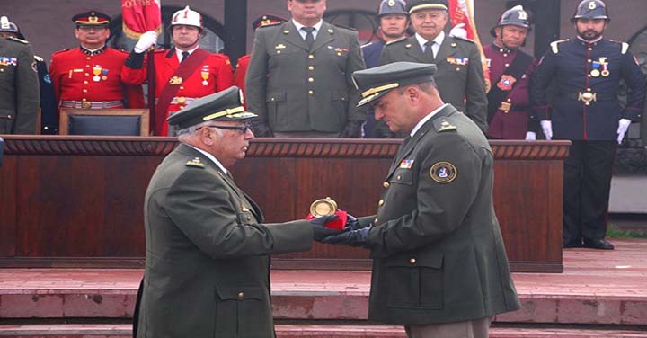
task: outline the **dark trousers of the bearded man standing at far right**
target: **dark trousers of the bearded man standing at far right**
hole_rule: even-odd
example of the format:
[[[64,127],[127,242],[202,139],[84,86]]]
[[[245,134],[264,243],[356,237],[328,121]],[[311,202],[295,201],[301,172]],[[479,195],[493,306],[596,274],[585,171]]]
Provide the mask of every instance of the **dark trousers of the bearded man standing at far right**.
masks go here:
[[[572,141],[564,160],[563,242],[603,239],[616,141]]]

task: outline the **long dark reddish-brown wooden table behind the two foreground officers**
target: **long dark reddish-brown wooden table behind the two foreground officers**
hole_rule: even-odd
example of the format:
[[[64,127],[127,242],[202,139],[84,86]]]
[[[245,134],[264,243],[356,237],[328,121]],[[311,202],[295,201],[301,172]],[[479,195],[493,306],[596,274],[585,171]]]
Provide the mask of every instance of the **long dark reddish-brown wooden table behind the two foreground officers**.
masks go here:
[[[6,136],[0,267],[140,267],[148,181],[175,138]],[[305,218],[332,197],[374,214],[401,140],[258,138],[231,169],[268,222]],[[513,271],[561,272],[568,141],[492,141],[494,203]],[[314,245],[274,269],[369,269],[368,252]]]

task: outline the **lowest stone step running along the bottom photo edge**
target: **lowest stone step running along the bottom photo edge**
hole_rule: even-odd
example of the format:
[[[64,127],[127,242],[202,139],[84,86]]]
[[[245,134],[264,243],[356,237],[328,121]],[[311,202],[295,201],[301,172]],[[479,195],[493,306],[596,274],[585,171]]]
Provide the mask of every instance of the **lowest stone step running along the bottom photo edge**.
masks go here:
[[[276,325],[277,338],[405,338],[402,326]],[[130,338],[126,324],[0,325],[0,336],[13,338]],[[647,338],[639,330],[493,327],[490,338]]]

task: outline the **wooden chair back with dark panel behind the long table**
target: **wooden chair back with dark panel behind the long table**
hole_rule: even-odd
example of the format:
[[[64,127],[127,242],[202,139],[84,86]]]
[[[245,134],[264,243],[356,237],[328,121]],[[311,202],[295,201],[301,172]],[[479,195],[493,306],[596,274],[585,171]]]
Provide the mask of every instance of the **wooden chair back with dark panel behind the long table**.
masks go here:
[[[147,109],[60,110],[60,135],[148,136]]]

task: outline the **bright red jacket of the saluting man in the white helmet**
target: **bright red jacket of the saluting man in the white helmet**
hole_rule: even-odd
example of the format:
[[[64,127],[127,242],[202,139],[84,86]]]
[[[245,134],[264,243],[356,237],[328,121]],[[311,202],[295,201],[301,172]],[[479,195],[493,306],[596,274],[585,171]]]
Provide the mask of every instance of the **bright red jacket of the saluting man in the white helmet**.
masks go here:
[[[195,52],[195,51],[194,51]],[[134,54],[131,53],[131,56]],[[223,54],[211,53],[192,73],[182,79],[173,79],[173,73],[180,66],[175,49],[155,51],[155,98],[160,98],[160,93],[168,84],[177,84],[180,87],[173,96],[167,111],[155,109],[155,135],[166,136],[169,114],[181,110],[187,104],[200,97],[217,93],[234,84],[234,74],[229,58]],[[189,57],[191,58],[191,57]],[[128,84],[142,84],[146,81],[146,60],[143,65],[132,67],[127,63],[124,71],[124,81]],[[173,83],[175,82],[175,83]]]

